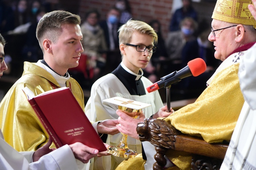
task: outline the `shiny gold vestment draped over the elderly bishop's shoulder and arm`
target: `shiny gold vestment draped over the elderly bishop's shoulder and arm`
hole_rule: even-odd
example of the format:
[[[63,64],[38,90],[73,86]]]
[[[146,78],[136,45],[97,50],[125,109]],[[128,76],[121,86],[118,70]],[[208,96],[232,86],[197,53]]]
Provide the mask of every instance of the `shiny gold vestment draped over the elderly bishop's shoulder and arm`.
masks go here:
[[[238,69],[236,63],[220,71],[194,103],[163,120],[209,143],[229,141],[244,103]]]

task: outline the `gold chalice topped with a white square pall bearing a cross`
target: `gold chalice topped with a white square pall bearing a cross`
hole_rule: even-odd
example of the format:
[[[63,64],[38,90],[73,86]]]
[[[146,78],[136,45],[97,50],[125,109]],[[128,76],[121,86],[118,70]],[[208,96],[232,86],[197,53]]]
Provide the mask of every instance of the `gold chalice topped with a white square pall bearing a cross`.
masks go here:
[[[120,97],[105,99],[103,101],[117,104],[118,109],[120,109],[122,112],[126,113],[127,115],[129,115],[134,119],[138,118],[138,116],[140,115],[140,112],[142,111],[142,108],[151,106],[150,104],[136,102],[133,100],[120,98]],[[123,158],[131,158],[136,156],[138,153],[134,150],[129,149],[127,146],[127,135],[123,133],[121,134],[123,135],[123,138],[120,141],[119,145],[110,146],[106,152],[114,156],[123,157]]]

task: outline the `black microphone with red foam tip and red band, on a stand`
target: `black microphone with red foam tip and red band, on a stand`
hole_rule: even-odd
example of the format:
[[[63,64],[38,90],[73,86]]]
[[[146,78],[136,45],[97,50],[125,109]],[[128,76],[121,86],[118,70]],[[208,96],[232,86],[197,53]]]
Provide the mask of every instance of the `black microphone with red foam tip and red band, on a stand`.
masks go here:
[[[152,91],[158,90],[162,87],[169,87],[171,84],[181,81],[181,79],[193,75],[194,77],[202,74],[206,70],[206,64],[202,58],[196,58],[188,62],[187,66],[180,71],[174,71],[165,77],[162,77],[160,81],[154,83],[153,85],[147,87],[147,91],[150,93]]]

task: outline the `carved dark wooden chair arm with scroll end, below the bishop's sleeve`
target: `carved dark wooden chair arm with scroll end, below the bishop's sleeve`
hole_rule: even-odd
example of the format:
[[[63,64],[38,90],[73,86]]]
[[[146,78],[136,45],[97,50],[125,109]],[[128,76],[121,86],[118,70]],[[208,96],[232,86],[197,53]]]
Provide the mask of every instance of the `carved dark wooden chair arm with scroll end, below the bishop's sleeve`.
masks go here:
[[[149,141],[155,146],[154,170],[164,169],[164,155],[168,149],[192,153],[191,169],[217,170],[228,148],[228,143],[207,143],[201,138],[182,134],[161,119],[148,118],[144,123],[138,123],[137,133],[141,141]]]

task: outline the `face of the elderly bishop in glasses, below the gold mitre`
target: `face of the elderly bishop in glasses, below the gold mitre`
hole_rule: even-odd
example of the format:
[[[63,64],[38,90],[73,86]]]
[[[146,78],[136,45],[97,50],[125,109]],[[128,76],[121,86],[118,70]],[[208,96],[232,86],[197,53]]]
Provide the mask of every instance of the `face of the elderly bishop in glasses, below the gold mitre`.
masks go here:
[[[219,21],[216,19],[212,20],[212,28],[213,30],[222,29],[231,26],[229,23],[224,21]],[[213,45],[215,46],[214,50],[214,56],[216,59],[219,59],[221,61],[226,60],[228,55],[234,51],[238,44],[235,41],[235,32],[236,27],[230,27],[227,29],[215,31],[215,35],[211,32],[208,36],[209,41],[213,42]]]

